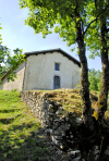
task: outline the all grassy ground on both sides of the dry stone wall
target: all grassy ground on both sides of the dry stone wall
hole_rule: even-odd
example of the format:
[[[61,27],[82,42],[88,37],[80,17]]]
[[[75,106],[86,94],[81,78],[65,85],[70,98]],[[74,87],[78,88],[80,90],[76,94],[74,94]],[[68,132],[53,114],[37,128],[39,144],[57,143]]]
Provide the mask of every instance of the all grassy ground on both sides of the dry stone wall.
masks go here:
[[[38,92],[48,92],[50,100],[60,102],[66,112],[72,111],[75,116],[81,116],[82,99],[78,91],[63,89]],[[97,95],[96,91],[93,94]],[[93,101],[93,108],[95,103]],[[109,117],[109,108],[106,117]],[[40,123],[22,102],[20,92],[0,90],[0,161],[38,161],[41,156],[50,156],[41,131]]]

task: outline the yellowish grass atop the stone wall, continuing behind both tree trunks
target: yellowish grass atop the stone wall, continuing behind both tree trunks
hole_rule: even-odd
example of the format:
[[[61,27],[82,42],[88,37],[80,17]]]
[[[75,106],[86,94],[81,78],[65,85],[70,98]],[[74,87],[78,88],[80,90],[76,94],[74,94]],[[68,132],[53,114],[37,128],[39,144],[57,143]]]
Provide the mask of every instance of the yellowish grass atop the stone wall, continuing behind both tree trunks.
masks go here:
[[[57,89],[57,90],[34,90],[36,92],[38,92],[38,95],[43,95],[43,92],[48,94],[47,98],[49,100],[55,100],[57,102],[59,102],[63,109],[64,109],[64,115],[68,112],[73,112],[74,116],[81,116],[82,115],[82,98],[80,96],[80,90],[76,89]],[[90,91],[90,94],[93,94],[94,96],[98,97],[99,96],[99,91]],[[96,100],[92,99],[90,97],[90,101],[92,101],[92,108],[95,109],[96,108]],[[107,121],[109,120],[109,95],[108,95],[108,109],[105,113],[105,117],[107,119]],[[108,121],[109,122],[109,121]]]

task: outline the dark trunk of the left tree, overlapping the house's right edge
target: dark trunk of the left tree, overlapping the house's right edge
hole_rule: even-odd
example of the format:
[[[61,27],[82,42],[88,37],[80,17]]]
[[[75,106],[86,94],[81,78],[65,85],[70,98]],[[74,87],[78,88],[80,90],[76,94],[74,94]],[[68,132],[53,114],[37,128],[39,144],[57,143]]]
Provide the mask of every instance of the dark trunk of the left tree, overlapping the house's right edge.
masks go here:
[[[87,66],[87,60],[85,57],[85,44],[84,38],[82,36],[81,32],[81,24],[76,26],[76,34],[77,34],[77,45],[78,45],[78,57],[82,67],[82,74],[81,74],[81,96],[83,101],[83,121],[84,124],[89,127],[90,129],[94,129],[93,124],[93,117],[92,117],[92,102],[89,99],[89,82],[88,82],[88,66]]]

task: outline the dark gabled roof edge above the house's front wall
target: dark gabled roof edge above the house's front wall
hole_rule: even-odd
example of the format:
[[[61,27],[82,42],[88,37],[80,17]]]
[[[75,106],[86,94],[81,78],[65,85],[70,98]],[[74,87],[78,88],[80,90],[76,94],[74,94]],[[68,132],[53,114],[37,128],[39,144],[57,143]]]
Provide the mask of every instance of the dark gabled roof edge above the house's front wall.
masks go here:
[[[80,61],[77,61],[76,59],[74,59],[73,57],[71,57],[69,53],[66,53],[65,51],[63,51],[60,48],[59,49],[49,49],[49,50],[41,50],[41,51],[25,52],[25,54],[26,54],[26,58],[27,58],[27,57],[29,57],[32,54],[36,54],[36,55],[40,54],[40,53],[46,54],[48,52],[52,53],[55,51],[58,51],[58,52],[62,53],[63,57],[66,57],[69,60],[73,61],[74,63],[76,63],[81,67]]]

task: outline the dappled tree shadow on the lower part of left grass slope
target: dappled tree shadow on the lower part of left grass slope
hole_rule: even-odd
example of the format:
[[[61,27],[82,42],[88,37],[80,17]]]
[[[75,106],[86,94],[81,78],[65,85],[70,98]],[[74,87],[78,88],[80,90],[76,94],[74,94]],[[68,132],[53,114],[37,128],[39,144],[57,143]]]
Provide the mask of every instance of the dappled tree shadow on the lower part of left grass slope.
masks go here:
[[[13,125],[11,129],[0,132],[0,161],[38,161],[41,157],[47,157],[48,150],[45,144],[43,128],[36,127],[29,136],[26,134],[13,138],[10,134],[16,129],[28,129],[33,124],[23,124],[22,126]],[[45,159],[46,161],[46,159]]]

